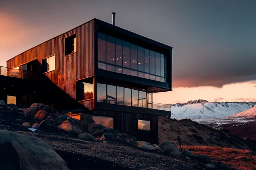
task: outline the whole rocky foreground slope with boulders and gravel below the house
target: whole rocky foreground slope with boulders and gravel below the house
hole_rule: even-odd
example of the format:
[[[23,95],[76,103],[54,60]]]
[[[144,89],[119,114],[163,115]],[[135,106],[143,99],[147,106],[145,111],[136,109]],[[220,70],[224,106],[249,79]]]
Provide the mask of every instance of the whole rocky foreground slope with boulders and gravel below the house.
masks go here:
[[[0,101],[0,169],[233,169],[170,141],[137,141],[84,116],[80,122],[44,104],[18,108]]]

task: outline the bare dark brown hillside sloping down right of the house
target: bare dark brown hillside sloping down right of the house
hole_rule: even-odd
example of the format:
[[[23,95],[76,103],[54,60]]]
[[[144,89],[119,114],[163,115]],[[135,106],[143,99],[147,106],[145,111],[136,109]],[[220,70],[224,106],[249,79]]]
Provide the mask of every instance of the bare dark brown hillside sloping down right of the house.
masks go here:
[[[182,145],[219,146],[256,151],[253,141],[246,141],[225,130],[216,130],[190,119],[176,120],[165,116],[158,119],[158,141],[178,141]]]

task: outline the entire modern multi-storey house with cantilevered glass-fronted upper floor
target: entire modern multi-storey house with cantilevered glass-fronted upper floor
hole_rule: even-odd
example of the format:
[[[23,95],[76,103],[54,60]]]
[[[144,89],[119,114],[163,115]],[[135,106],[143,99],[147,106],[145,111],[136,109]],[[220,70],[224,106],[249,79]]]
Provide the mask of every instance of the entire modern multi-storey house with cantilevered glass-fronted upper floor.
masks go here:
[[[112,24],[94,18],[21,53],[7,61],[6,74],[30,81],[16,99],[21,104],[80,107],[95,122],[158,144],[158,116],[171,116],[171,107],[154,103],[152,94],[172,91],[172,47],[120,28],[112,17]]]

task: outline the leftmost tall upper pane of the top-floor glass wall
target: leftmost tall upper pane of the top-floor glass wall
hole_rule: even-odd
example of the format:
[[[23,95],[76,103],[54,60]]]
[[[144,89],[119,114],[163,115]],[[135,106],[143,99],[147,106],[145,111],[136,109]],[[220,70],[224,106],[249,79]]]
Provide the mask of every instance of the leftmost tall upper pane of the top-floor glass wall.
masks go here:
[[[106,35],[98,33],[98,61],[106,62]]]

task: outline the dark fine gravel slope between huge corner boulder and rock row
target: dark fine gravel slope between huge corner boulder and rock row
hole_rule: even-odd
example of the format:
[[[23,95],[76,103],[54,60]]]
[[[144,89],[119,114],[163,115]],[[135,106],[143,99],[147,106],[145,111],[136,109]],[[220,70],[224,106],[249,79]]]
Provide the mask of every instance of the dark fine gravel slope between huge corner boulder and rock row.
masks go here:
[[[144,152],[113,142],[86,142],[67,134],[28,132],[20,126],[0,125],[1,130],[35,136],[53,147],[70,170],[195,170],[185,159]]]

